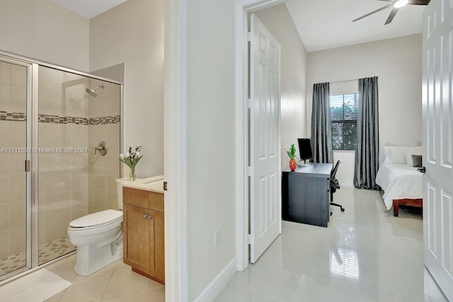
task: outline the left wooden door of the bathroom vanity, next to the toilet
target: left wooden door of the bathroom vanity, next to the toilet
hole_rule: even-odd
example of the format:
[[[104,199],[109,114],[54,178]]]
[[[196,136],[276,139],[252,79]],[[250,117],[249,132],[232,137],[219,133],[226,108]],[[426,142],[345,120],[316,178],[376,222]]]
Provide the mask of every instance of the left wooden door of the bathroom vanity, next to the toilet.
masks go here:
[[[150,248],[154,242],[149,210],[125,204],[123,215],[124,262],[149,274]]]

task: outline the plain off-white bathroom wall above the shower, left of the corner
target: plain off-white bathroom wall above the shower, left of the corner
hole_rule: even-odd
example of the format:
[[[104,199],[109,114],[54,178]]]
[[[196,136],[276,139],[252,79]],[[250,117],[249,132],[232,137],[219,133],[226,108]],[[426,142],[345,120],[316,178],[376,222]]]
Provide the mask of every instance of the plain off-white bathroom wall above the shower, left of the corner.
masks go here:
[[[0,50],[88,71],[88,19],[51,0],[2,0]]]

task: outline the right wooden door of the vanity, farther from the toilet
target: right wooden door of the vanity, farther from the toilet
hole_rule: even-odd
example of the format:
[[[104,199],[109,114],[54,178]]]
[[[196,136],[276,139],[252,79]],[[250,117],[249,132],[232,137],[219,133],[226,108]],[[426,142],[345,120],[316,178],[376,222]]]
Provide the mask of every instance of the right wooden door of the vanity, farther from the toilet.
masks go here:
[[[151,276],[165,280],[165,245],[164,245],[164,213],[149,210],[153,216],[154,252],[150,253]],[[153,246],[151,245],[151,250]]]

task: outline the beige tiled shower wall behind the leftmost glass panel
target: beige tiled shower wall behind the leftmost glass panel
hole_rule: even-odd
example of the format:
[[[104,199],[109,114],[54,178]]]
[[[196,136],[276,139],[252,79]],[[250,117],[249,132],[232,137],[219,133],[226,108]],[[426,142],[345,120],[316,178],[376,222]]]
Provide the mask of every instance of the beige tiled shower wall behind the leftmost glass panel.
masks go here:
[[[26,71],[0,62],[0,259],[25,250]],[[21,113],[19,115],[18,113]]]

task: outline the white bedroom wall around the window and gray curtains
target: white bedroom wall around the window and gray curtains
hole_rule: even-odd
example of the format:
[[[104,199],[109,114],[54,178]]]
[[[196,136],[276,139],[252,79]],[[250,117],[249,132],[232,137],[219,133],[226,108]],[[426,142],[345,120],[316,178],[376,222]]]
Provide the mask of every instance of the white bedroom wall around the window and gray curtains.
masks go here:
[[[422,141],[422,35],[309,52],[307,129],[310,132],[313,84],[378,76],[379,144],[413,146]],[[343,159],[337,178],[352,184],[354,151],[335,151]]]

